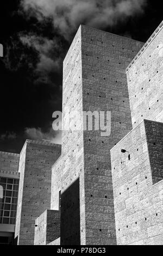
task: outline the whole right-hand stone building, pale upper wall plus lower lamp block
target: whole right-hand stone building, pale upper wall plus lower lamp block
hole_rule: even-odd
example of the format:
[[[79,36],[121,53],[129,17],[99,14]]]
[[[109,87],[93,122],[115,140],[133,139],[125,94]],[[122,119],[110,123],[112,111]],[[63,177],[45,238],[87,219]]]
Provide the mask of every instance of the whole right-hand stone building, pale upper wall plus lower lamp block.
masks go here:
[[[162,53],[163,22],[127,68],[134,129],[111,149],[118,245],[163,244]]]

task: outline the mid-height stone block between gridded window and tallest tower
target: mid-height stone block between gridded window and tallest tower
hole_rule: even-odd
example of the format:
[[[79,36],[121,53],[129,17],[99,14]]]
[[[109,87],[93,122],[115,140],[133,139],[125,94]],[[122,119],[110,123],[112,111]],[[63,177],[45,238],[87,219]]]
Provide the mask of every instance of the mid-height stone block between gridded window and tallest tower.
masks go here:
[[[27,140],[20,154],[20,186],[15,237],[18,245],[34,245],[35,219],[51,204],[51,168],[61,146]]]

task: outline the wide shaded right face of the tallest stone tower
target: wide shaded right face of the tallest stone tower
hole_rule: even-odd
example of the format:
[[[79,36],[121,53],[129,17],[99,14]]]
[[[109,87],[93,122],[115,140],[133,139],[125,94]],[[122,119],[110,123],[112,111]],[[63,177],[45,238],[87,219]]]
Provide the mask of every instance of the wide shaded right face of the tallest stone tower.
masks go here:
[[[83,111],[111,112],[110,135],[84,131],[87,245],[116,243],[110,149],[132,128],[125,70],[142,45],[82,26]]]

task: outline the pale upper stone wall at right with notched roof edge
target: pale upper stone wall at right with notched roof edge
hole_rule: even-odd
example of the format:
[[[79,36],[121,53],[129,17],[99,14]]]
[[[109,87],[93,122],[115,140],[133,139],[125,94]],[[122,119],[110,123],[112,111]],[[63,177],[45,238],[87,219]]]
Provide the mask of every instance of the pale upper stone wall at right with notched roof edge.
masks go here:
[[[127,68],[133,127],[163,121],[163,22]]]

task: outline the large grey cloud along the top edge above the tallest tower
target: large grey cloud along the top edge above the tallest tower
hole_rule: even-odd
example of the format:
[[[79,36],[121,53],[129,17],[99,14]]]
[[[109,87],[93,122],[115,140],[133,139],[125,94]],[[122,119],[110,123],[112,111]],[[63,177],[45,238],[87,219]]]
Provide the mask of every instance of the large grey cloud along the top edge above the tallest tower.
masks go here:
[[[96,28],[116,25],[126,17],[143,12],[146,0],[22,0],[21,7],[39,21],[53,20],[66,39],[80,23]]]

